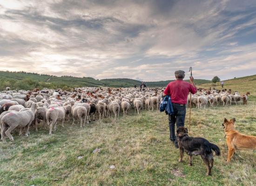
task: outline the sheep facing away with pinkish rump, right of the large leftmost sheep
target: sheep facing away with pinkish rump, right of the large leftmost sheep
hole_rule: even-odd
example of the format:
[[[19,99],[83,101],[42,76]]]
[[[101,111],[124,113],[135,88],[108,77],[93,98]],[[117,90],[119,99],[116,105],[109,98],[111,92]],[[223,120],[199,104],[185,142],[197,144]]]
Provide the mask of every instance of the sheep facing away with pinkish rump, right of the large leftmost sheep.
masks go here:
[[[64,107],[52,107],[49,108],[46,112],[46,120],[49,126],[49,135],[52,134],[53,125],[54,131],[56,131],[57,120],[62,120],[62,127],[64,127],[65,120],[65,109]]]

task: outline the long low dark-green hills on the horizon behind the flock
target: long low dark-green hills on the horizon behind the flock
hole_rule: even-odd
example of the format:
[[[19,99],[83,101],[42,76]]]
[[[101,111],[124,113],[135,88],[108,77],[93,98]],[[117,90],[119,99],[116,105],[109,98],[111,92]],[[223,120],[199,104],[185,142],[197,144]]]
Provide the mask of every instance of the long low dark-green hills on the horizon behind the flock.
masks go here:
[[[165,81],[151,81],[146,82],[149,87],[152,86],[167,86],[172,80]],[[189,80],[186,80],[189,81]],[[210,80],[195,80],[195,84],[209,83]],[[96,80],[91,77],[73,77],[73,76],[54,76],[48,74],[39,73],[27,73],[27,72],[9,72],[0,71],[0,90],[5,89],[7,86],[11,89],[33,89],[39,88],[64,88],[71,89],[79,86],[110,86],[110,87],[133,87],[139,86],[141,81],[128,78],[116,78],[116,79],[102,79]]]

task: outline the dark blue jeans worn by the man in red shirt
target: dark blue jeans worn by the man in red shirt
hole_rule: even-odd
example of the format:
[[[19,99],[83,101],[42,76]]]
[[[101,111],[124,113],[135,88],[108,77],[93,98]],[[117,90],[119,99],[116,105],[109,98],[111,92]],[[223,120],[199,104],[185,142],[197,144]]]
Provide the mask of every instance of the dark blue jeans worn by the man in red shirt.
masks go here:
[[[186,104],[177,104],[173,103],[173,109],[174,109],[174,114],[169,114],[169,129],[170,129],[170,140],[175,141],[176,136],[175,136],[175,123],[176,123],[176,128],[179,126],[184,126],[185,123],[185,116],[186,116]]]

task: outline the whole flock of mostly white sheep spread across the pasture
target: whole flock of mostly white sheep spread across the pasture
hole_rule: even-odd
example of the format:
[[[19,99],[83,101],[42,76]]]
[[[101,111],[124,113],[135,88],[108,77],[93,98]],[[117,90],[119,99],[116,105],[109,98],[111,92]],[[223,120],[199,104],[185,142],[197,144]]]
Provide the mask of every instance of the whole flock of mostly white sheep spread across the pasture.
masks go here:
[[[73,117],[80,122],[80,127],[91,122],[91,116],[95,115],[101,120],[104,117],[119,117],[120,110],[123,116],[127,115],[130,109],[135,113],[141,113],[142,109],[154,110],[159,108],[162,101],[163,88],[147,88],[145,91],[138,91],[135,88],[97,88],[81,87],[74,91],[62,91],[35,89],[33,91],[15,91],[7,87],[6,91],[0,92],[0,132],[1,140],[5,142],[6,137],[13,141],[11,133],[20,129],[20,135],[29,134],[29,127],[32,125],[37,131],[38,123],[42,121],[42,127],[52,134],[53,127],[56,130],[57,121],[70,120]],[[230,105],[232,102],[247,100],[247,96],[237,92],[233,95],[226,92],[211,92],[199,90],[191,97],[191,104],[197,108],[211,106],[220,102]],[[240,103],[241,104],[241,103]],[[189,105],[189,96],[188,96]]]

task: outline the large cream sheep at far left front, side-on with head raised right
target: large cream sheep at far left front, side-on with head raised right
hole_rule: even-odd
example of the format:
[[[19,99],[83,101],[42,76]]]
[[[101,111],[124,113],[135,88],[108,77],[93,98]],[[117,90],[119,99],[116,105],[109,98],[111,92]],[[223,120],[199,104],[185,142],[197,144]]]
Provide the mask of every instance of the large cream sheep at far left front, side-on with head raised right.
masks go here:
[[[17,127],[20,126],[20,135],[22,127],[27,126],[27,131],[25,133],[28,136],[29,126],[34,120],[34,114],[36,111],[36,104],[32,104],[29,110],[23,112],[10,112],[4,115],[1,119],[2,123],[2,140],[5,142],[6,136],[13,141],[13,136],[11,132]],[[9,126],[9,128],[8,128]]]

